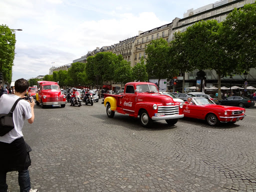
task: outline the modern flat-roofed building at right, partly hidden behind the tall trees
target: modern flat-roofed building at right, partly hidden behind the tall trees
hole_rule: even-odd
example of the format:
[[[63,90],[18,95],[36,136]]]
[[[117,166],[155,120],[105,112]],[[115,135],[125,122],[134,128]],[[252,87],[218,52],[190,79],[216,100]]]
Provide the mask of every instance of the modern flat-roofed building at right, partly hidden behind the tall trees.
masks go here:
[[[169,34],[169,41],[173,39],[174,32],[177,31],[185,31],[188,26],[191,26],[195,22],[199,20],[208,20],[208,19],[215,19],[218,22],[223,21],[227,14],[229,14],[234,8],[243,7],[244,4],[254,3],[255,0],[219,0],[215,3],[207,4],[205,6],[199,7],[197,9],[188,9],[187,12],[183,14],[183,18],[178,19]],[[185,87],[194,86],[196,83],[195,77],[196,72],[198,70],[194,70],[191,72],[185,73]],[[204,70],[206,73],[206,86],[210,87],[217,84],[217,74],[214,70]],[[246,80],[248,80],[248,85],[256,84],[256,69],[251,68],[247,71],[248,75]],[[177,79],[177,85],[175,87],[176,90],[182,91],[182,78],[180,74]],[[244,85],[245,78],[243,74],[241,75],[234,75],[232,78],[230,77],[222,77],[221,78],[221,85],[222,86],[230,86],[230,85]],[[172,87],[173,88],[173,87]]]

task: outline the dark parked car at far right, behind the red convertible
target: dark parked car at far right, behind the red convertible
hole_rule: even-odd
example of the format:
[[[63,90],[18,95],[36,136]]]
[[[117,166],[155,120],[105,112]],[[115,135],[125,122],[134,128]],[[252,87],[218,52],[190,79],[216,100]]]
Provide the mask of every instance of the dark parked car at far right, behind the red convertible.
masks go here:
[[[249,108],[250,106],[254,106],[255,101],[245,96],[229,96],[226,99],[219,100],[218,104]]]

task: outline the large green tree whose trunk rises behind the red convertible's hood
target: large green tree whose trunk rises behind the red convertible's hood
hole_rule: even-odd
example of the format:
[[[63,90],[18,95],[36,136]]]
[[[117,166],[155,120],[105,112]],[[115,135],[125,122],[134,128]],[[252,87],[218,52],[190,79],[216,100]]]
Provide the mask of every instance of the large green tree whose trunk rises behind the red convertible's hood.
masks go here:
[[[235,74],[233,63],[226,49],[222,23],[216,20],[199,21],[185,31],[185,43],[189,64],[199,70],[214,69],[218,75],[218,97],[221,99],[221,77]]]

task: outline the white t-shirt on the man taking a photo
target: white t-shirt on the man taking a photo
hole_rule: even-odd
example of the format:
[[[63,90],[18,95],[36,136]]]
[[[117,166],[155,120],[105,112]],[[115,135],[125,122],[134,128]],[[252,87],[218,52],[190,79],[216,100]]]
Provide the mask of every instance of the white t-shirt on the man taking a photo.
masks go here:
[[[0,113],[8,114],[14,102],[19,98],[15,94],[3,94],[0,97]],[[32,117],[31,106],[26,100],[19,100],[12,114],[14,128],[5,135],[0,136],[1,142],[11,143],[13,140],[23,136],[22,127],[25,119]]]

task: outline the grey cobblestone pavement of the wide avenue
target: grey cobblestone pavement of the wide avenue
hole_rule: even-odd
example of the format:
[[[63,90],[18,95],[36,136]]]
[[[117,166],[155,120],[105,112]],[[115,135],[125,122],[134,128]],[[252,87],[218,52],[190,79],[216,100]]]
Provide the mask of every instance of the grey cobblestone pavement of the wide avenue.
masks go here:
[[[256,191],[256,108],[235,124],[212,127],[179,119],[174,126],[115,113],[100,102],[42,109],[24,125],[32,147],[31,184],[44,192]],[[19,191],[17,172],[7,174]]]

